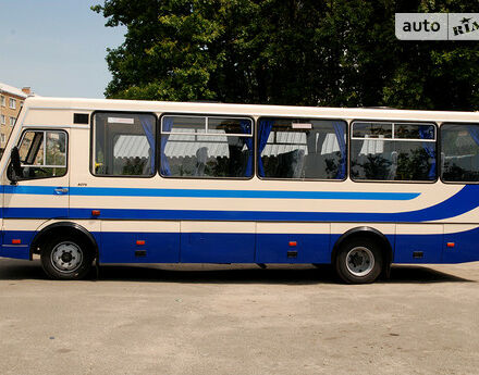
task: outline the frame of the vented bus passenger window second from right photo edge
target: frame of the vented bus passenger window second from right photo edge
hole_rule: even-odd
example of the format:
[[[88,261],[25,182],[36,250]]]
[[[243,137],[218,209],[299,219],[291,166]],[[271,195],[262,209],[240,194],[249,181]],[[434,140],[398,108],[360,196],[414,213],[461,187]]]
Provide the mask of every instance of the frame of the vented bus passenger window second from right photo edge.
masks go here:
[[[439,173],[440,173],[440,165],[438,163],[438,153],[441,153],[441,149],[440,149],[440,132],[439,128],[439,124],[434,121],[407,121],[407,120],[368,120],[368,118],[352,118],[349,122],[349,141],[352,140],[359,140],[359,139],[364,139],[364,138],[353,138],[353,124],[355,122],[361,122],[361,123],[388,123],[388,124],[393,124],[393,134],[392,134],[392,138],[383,138],[382,140],[388,140],[388,141],[401,141],[401,140],[405,140],[405,141],[422,141],[422,139],[409,139],[409,138],[394,138],[394,124],[410,124],[410,125],[433,125],[434,126],[434,134],[435,134],[435,138],[434,138],[434,142],[435,142],[435,178],[431,179],[431,180],[410,180],[410,179],[406,179],[406,180],[398,180],[398,179],[355,179],[353,178],[353,176],[351,175],[351,161],[352,161],[352,147],[349,147],[349,154],[348,154],[348,171],[349,171],[349,179],[354,183],[359,183],[359,184],[368,184],[368,183],[373,183],[373,184],[437,184],[440,178],[439,178]],[[378,139],[378,138],[370,138],[370,139]],[[428,142],[432,143],[432,139],[427,139]]]

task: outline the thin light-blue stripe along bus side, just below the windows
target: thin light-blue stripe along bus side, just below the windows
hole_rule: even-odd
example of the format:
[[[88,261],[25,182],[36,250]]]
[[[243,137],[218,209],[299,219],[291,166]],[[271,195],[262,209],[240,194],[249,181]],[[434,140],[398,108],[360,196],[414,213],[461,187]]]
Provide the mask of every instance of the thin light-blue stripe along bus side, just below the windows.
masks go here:
[[[54,195],[54,186],[4,185],[5,193]],[[167,198],[259,198],[259,199],[347,199],[412,200],[420,192],[371,191],[278,191],[278,190],[211,190],[211,189],[136,189],[71,187],[71,196],[86,197],[167,197]]]

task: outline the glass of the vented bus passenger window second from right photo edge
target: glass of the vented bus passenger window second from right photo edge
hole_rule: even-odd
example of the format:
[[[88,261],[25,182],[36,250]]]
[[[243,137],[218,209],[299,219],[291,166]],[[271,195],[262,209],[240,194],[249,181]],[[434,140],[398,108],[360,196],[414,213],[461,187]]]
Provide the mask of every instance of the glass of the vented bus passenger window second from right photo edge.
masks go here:
[[[353,123],[351,176],[355,180],[435,180],[435,126]]]

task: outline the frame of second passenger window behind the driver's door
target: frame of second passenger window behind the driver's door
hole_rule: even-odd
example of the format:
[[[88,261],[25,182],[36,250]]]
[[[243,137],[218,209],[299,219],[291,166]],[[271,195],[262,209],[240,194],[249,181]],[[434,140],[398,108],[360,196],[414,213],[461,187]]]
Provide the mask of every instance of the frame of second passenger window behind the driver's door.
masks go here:
[[[201,176],[163,176],[161,174],[161,136],[163,135],[163,117],[164,116],[176,116],[176,117],[217,117],[217,118],[243,118],[243,120],[250,120],[251,121],[251,126],[253,126],[253,132],[251,132],[251,136],[250,138],[253,139],[253,163],[256,163],[256,124],[257,122],[255,121],[255,118],[251,115],[242,115],[242,114],[208,114],[208,113],[181,113],[181,112],[164,112],[161,113],[161,115],[159,116],[158,120],[158,126],[160,129],[159,133],[159,139],[160,139],[160,146],[157,147],[157,152],[158,152],[158,167],[157,167],[157,173],[161,178],[165,178],[165,179],[198,179],[198,180],[249,180],[255,178],[256,176],[256,168],[253,168],[251,171],[251,175],[250,176],[245,176],[245,177],[201,177]],[[205,126],[205,129],[207,128],[208,125]],[[187,134],[187,133],[165,133],[168,135],[193,135],[193,134]],[[212,136],[218,136],[221,134],[217,134],[217,133],[210,133],[210,135]],[[208,136],[207,133],[205,134],[200,134],[200,136]],[[233,137],[244,137],[244,134],[231,134],[231,136]]]

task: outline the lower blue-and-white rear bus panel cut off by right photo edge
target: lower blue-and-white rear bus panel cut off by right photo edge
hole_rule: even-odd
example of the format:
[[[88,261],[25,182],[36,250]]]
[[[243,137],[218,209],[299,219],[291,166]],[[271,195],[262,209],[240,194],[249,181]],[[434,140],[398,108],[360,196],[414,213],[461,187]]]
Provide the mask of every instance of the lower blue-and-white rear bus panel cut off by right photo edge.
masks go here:
[[[445,224],[442,261],[444,263],[479,261],[479,227]]]

